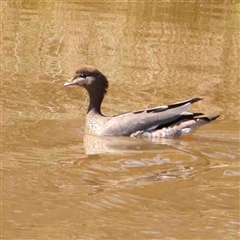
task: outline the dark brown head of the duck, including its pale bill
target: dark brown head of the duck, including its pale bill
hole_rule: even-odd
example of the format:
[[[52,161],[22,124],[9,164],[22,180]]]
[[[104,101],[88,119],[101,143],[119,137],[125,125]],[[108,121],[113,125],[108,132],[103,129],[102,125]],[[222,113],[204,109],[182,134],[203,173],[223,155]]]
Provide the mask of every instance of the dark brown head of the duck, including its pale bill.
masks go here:
[[[64,86],[78,85],[88,90],[88,92],[101,91],[103,94],[107,92],[107,78],[96,68],[91,66],[83,66],[79,68],[74,76],[69,79]]]

